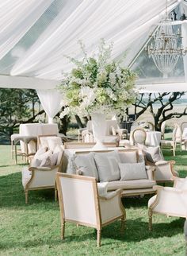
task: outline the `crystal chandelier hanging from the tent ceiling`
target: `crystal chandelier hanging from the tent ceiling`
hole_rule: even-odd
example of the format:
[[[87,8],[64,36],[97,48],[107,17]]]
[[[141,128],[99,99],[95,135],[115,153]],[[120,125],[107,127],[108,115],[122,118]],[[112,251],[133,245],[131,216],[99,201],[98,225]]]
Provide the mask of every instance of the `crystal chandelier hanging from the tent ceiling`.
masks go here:
[[[161,21],[151,37],[153,42],[147,47],[148,56],[152,57],[156,67],[166,78],[177,64],[178,58],[185,55],[181,45],[181,33],[179,31],[174,33],[171,19],[167,15],[167,2],[166,18]]]

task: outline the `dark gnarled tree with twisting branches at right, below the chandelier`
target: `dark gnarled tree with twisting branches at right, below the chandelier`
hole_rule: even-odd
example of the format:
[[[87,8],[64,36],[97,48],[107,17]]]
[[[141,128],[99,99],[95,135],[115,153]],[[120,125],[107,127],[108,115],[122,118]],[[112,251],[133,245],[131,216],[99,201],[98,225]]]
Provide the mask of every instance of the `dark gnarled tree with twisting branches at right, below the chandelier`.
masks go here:
[[[133,104],[135,106],[136,118],[139,118],[141,114],[148,110],[155,120],[155,130],[160,130],[162,122],[171,118],[181,118],[181,116],[187,115],[187,107],[181,112],[173,111],[174,103],[178,99],[181,99],[182,95],[185,95],[184,91],[139,94]],[[158,103],[157,110],[154,108],[155,103]]]

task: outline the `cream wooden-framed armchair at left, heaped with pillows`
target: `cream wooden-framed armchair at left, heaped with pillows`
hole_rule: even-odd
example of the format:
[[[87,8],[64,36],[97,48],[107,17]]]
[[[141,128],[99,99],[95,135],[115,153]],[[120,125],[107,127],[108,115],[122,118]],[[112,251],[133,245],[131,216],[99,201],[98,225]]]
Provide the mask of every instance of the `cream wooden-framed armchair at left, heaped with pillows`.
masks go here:
[[[25,190],[25,204],[28,204],[29,191],[38,189],[55,189],[55,200],[57,197],[57,189],[55,184],[55,176],[57,172],[61,172],[63,165],[63,150],[58,149],[54,151],[56,154],[55,165],[48,166],[37,166],[33,167],[32,159],[29,168],[26,167],[22,170],[22,184]]]

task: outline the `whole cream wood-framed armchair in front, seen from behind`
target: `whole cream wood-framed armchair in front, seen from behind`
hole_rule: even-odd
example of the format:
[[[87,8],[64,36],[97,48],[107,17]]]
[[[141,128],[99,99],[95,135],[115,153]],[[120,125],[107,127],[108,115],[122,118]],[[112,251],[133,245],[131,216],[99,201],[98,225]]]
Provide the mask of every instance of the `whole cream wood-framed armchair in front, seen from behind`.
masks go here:
[[[125,211],[120,192],[109,192],[100,197],[93,177],[57,173],[57,189],[61,216],[61,236],[65,223],[72,222],[97,229],[97,246],[101,246],[101,229],[116,219],[124,227]]]

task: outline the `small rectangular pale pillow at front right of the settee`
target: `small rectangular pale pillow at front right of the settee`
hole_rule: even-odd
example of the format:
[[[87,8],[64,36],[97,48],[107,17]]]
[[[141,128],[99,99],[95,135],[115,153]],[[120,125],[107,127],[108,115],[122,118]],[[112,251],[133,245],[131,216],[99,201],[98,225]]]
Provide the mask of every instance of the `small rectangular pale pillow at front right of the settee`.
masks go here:
[[[147,180],[144,163],[124,164],[119,163],[120,180]]]

